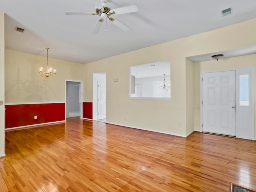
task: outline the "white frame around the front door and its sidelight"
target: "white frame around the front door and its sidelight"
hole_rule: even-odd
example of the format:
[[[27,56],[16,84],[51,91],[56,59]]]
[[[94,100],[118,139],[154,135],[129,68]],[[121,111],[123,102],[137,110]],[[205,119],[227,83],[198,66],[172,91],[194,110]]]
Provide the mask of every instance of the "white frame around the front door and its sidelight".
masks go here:
[[[230,69],[224,69],[224,70],[214,70],[214,71],[204,71],[204,72],[200,72],[200,132],[202,132],[202,123],[203,123],[203,111],[202,111],[202,74],[203,73],[210,73],[210,72],[224,72],[224,71],[231,71],[231,70],[235,70],[236,71],[236,82],[237,82],[237,78],[239,78],[237,71],[239,70],[250,70],[250,84],[251,84],[251,93],[250,93],[250,97],[251,97],[251,102],[252,102],[252,117],[251,117],[251,129],[252,129],[252,138],[251,140],[255,140],[255,128],[254,128],[254,118],[255,118],[255,112],[254,112],[254,67],[244,67],[244,68],[230,68]],[[238,88],[236,85],[236,98],[238,98]],[[238,100],[236,99],[236,105],[238,103]],[[236,110],[236,116],[237,116],[237,110]],[[237,126],[237,121],[236,121],[236,127]],[[238,129],[236,129],[236,138],[238,138]]]

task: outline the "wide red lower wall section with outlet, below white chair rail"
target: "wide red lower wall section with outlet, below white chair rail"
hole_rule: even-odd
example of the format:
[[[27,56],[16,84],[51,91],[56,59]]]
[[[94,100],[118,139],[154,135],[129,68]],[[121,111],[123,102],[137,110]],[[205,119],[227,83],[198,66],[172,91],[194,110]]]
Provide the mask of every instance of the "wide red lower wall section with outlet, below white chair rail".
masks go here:
[[[65,103],[17,104],[5,108],[5,128],[65,120]]]

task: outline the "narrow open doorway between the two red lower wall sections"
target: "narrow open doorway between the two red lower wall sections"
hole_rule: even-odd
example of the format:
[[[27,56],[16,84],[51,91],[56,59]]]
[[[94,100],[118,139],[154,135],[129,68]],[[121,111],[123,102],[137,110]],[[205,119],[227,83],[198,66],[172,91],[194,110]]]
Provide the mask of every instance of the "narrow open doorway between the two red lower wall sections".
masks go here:
[[[66,118],[80,116],[82,119],[82,82],[66,80]]]

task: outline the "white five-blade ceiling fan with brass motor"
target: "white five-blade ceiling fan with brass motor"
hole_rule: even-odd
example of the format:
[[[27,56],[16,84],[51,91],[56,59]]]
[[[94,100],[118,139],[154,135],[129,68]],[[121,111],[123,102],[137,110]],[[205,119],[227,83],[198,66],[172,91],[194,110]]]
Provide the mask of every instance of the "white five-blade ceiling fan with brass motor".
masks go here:
[[[118,26],[120,29],[124,31],[130,30],[128,26],[118,21],[117,19],[110,17],[112,15],[124,14],[124,13],[132,13],[137,12],[138,7],[136,5],[130,5],[126,7],[120,7],[116,9],[110,9],[108,7],[102,6],[102,3],[105,4],[108,0],[92,0],[94,5],[96,6],[95,13],[92,12],[65,12],[66,15],[98,15],[101,18],[96,22],[93,33],[98,33],[100,31],[100,27],[104,19],[108,18],[113,24]]]

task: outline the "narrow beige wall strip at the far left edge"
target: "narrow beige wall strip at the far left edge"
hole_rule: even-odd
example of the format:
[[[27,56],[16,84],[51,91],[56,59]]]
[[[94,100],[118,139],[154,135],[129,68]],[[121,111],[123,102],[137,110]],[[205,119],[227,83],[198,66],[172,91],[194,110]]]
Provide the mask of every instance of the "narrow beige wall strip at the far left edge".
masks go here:
[[[0,12],[0,100],[4,101],[4,13]],[[4,156],[4,104],[0,105],[0,157]]]

